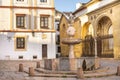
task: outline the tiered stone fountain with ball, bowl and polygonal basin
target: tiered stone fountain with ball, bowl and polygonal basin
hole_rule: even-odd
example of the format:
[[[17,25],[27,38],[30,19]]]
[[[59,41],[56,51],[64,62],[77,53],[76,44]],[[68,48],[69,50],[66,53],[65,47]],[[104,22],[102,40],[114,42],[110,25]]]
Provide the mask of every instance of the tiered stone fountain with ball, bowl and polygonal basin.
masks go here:
[[[68,45],[69,48],[69,58],[60,57],[57,59],[46,59],[44,60],[44,68],[55,71],[77,71],[78,68],[83,68],[83,70],[93,70],[99,68],[99,60],[93,57],[81,57],[75,58],[74,56],[74,45],[83,42],[81,39],[74,38],[75,28],[73,27],[74,17],[70,16],[70,24],[66,30],[68,38],[62,39],[62,43]],[[93,48],[93,47],[92,47]],[[97,66],[96,66],[97,65]]]

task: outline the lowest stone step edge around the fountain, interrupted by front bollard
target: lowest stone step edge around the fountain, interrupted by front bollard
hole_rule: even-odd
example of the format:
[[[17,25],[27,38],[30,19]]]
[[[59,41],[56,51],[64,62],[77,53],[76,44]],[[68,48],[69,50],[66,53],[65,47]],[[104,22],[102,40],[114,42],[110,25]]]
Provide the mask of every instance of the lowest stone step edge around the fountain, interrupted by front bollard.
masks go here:
[[[29,74],[28,71],[24,71],[25,73]],[[92,78],[92,77],[106,77],[106,76],[113,76],[116,75],[116,72],[101,72],[101,73],[93,73],[93,74],[84,74],[85,78]],[[75,75],[68,75],[68,74],[45,74],[45,73],[35,73],[35,75],[31,77],[62,77],[62,78],[77,78],[77,74]]]

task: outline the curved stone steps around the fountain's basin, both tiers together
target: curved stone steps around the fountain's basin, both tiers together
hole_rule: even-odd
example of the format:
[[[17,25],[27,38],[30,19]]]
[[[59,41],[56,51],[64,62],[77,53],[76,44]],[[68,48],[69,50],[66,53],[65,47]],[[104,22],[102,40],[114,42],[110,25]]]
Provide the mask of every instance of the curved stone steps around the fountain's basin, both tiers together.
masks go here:
[[[106,70],[107,69],[107,70]],[[87,72],[84,74],[84,77],[86,78],[92,78],[92,77],[105,77],[105,76],[112,76],[116,75],[115,69],[103,69],[96,72]],[[24,71],[25,73],[29,74],[29,71]],[[70,77],[70,78],[77,78],[77,74],[74,71],[50,71],[45,70],[42,68],[35,69],[35,75],[33,77]]]

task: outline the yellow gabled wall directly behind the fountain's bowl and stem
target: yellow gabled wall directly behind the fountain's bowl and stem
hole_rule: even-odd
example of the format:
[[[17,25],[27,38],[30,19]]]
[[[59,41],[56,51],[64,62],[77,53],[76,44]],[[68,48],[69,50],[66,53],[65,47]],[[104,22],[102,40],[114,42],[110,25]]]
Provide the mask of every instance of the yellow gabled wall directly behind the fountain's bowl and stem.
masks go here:
[[[65,27],[63,26],[63,24],[65,24]],[[60,21],[60,45],[61,45],[61,55],[63,57],[66,57],[69,55],[69,46],[66,44],[63,44],[61,41],[64,38],[68,38],[67,34],[66,34],[66,30],[68,28],[68,21],[65,18],[65,16],[62,16],[61,21]],[[75,32],[75,36],[74,38],[80,39],[81,38],[81,23],[80,23],[80,19],[77,18],[75,19],[74,23],[73,23],[73,27],[76,29]],[[76,44],[74,46],[74,54],[76,58],[81,57],[82,55],[82,44]]]

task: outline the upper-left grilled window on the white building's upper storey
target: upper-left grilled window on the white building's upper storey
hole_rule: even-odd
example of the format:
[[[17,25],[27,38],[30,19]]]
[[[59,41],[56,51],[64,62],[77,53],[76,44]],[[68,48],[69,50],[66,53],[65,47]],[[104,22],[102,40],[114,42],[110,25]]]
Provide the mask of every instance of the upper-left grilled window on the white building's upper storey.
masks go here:
[[[25,28],[25,15],[16,15],[16,27]]]

